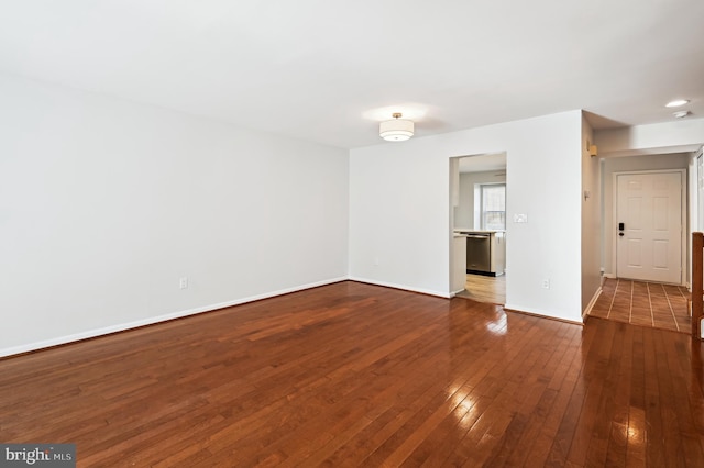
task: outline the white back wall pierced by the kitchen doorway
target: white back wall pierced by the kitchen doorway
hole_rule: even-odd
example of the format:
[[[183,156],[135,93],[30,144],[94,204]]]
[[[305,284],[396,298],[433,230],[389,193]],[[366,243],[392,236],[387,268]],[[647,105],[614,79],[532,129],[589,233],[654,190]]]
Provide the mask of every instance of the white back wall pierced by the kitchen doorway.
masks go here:
[[[580,322],[581,115],[570,111],[352,149],[350,276],[448,296],[449,158],[507,152],[506,307]],[[514,223],[517,213],[528,223]]]

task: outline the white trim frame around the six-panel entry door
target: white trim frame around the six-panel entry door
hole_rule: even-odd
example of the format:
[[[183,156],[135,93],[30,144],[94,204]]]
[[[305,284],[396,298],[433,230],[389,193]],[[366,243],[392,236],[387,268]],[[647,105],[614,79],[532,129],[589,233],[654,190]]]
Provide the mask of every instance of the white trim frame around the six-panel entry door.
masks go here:
[[[680,244],[680,286],[683,286],[686,281],[686,253],[689,250],[688,243],[688,178],[686,169],[652,169],[652,170],[624,170],[620,172],[612,174],[612,226],[616,230],[618,226],[618,176],[639,175],[639,174],[680,174],[680,225],[681,225],[681,244]],[[618,276],[618,250],[616,236],[612,237],[612,271],[614,271],[614,278]],[[604,275],[607,278],[609,276]]]

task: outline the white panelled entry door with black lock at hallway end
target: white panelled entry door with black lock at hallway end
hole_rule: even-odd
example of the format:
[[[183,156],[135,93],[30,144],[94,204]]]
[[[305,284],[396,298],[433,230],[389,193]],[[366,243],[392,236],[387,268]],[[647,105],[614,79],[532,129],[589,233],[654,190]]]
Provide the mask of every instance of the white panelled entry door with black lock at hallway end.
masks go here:
[[[617,176],[616,275],[682,281],[682,174]]]

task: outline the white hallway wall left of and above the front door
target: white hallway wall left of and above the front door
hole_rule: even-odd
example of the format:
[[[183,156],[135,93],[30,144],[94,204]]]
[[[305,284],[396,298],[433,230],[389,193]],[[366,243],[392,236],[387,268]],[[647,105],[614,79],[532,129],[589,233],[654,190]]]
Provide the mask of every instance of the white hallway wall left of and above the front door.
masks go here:
[[[603,190],[604,211],[602,243],[604,248],[604,274],[616,275],[616,256],[614,255],[614,239],[617,234],[614,225],[614,174],[639,170],[686,169],[690,164],[689,154],[646,155],[629,157],[608,157],[604,159]]]

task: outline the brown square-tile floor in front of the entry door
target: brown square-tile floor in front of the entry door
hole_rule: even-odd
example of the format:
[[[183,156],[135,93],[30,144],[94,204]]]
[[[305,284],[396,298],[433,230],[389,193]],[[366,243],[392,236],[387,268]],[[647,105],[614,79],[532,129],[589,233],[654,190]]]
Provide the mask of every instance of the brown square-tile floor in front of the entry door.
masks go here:
[[[685,287],[606,279],[591,316],[691,333]]]

